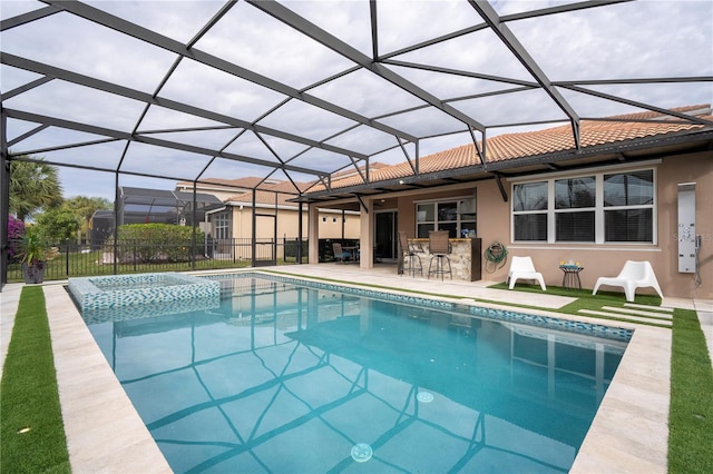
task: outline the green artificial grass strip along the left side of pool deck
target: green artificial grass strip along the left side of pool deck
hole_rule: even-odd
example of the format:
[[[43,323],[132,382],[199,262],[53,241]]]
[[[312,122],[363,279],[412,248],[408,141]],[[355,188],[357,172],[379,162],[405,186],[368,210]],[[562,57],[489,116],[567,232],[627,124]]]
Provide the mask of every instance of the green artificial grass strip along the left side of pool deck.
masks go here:
[[[45,294],[22,288],[0,382],[0,461],[8,473],[69,473]],[[30,428],[19,434],[22,428]]]

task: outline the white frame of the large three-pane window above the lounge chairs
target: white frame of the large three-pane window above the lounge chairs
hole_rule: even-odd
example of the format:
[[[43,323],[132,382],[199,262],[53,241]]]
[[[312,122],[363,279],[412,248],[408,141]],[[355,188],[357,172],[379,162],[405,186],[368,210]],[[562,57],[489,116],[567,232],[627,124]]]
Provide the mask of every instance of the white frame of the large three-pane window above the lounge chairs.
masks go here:
[[[516,211],[514,210],[514,199],[510,203],[510,241],[515,244],[530,244],[530,245],[631,245],[631,246],[644,246],[644,245],[658,245],[658,178],[657,178],[657,167],[661,160],[647,161],[646,164],[642,164],[642,166],[632,168],[629,166],[613,166],[613,167],[602,167],[596,169],[588,170],[579,170],[577,172],[558,172],[558,174],[547,174],[540,175],[538,177],[533,178],[515,178],[510,179],[510,195],[515,196],[515,186],[517,185],[526,185],[531,182],[547,182],[547,239],[546,240],[516,240],[515,239],[515,216],[524,215],[524,214],[540,214],[541,210],[533,211],[533,210],[524,210]],[[644,166],[645,165],[645,166]],[[653,174],[653,182],[652,182],[652,192],[653,192],[653,203],[649,205],[641,205],[641,206],[609,206],[604,207],[604,176],[605,175],[616,175],[616,174],[627,174],[627,172],[637,172],[637,171],[652,171]],[[594,217],[594,233],[595,238],[594,241],[558,241],[556,240],[556,217],[555,215],[560,211],[569,211],[569,209],[555,209],[555,181],[567,178],[585,178],[585,177],[594,177],[595,178],[595,217]],[[606,241],[605,240],[605,228],[604,228],[604,213],[605,210],[617,210],[617,209],[652,209],[652,241]],[[576,210],[587,210],[590,208],[577,208]]]

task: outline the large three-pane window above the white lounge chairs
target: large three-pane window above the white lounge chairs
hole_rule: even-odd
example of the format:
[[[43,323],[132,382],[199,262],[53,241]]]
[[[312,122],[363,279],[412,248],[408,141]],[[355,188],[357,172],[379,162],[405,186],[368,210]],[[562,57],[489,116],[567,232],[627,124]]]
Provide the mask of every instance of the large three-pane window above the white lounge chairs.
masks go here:
[[[512,186],[512,238],[548,243],[654,243],[654,170]]]

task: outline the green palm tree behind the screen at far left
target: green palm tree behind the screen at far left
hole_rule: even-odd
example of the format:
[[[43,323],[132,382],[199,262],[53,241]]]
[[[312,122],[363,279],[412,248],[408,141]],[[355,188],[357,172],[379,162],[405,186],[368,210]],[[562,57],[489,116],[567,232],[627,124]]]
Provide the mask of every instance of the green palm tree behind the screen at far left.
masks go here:
[[[30,158],[23,156],[21,158]],[[10,162],[10,213],[25,221],[40,209],[62,203],[62,188],[56,166],[40,161]]]

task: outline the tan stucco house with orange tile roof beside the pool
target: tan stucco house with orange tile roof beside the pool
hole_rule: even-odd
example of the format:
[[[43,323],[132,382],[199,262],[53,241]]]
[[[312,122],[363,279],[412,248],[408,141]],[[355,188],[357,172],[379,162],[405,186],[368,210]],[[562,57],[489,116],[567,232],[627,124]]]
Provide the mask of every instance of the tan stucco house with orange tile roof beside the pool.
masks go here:
[[[710,105],[673,110],[696,120],[653,111],[582,120],[579,149],[570,126],[501,135],[488,138],[485,162],[482,144],[469,144],[421,157],[418,175],[404,162],[371,170],[368,182],[332,176],[300,200],[360,210],[364,267],[368,249],[394,248],[397,230],[475,231],[484,248],[531,256],[550,285],[563,282],[561,260],[580,263],[588,288],[625,260],[648,260],[664,295],[711,298],[713,117]],[[487,269],[484,279],[501,282],[508,266]]]

